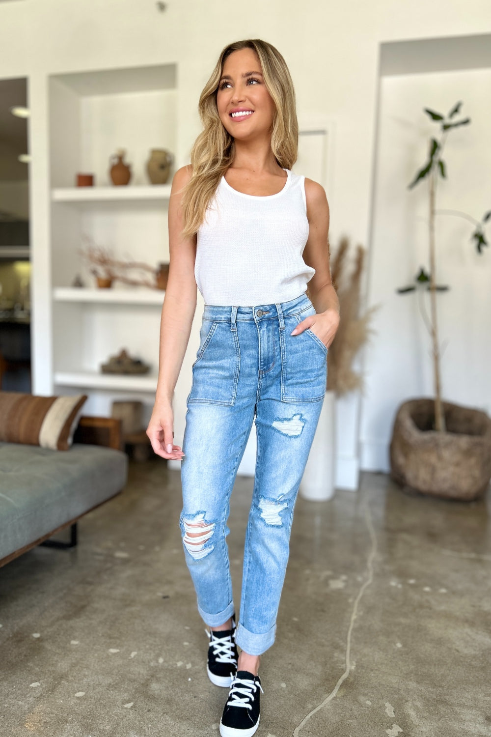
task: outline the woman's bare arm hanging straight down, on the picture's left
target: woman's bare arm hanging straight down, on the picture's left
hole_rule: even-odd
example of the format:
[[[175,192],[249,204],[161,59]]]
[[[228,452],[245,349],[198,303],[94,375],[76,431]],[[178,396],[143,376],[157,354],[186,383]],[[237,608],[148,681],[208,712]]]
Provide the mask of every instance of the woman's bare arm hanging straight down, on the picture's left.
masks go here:
[[[172,181],[169,200],[169,281],[160,320],[160,352],[155,405],[146,434],[152,448],[162,458],[182,458],[182,449],[174,445],[172,397],[184,355],[197,304],[194,279],[196,237],[184,238],[182,189],[191,177],[191,167],[178,170]],[[169,450],[169,447],[171,450]]]

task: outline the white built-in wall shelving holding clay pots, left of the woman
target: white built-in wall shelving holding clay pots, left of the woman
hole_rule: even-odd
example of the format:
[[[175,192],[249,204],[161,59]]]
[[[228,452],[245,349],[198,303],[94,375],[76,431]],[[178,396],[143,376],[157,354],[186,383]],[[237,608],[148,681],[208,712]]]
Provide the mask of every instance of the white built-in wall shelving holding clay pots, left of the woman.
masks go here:
[[[85,390],[88,413],[108,414],[112,399],[135,394],[151,405],[164,292],[118,282],[94,288],[82,250],[93,244],[154,268],[169,261],[171,184],[150,184],[146,162],[152,148],[177,150],[177,67],[53,75],[49,125],[53,390]],[[132,170],[127,186],[110,181],[119,148]],[[92,173],[95,186],[74,186],[79,172]],[[88,286],[70,286],[77,274]],[[101,364],[121,349],[149,374],[102,374]]]

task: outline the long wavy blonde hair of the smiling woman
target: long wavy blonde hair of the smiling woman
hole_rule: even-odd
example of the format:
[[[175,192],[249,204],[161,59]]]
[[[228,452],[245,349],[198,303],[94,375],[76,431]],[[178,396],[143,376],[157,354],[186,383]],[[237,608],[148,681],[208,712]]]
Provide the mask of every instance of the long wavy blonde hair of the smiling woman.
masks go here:
[[[225,46],[215,69],[199,97],[203,130],[191,149],[191,180],[183,189],[185,236],[194,235],[205,220],[208,205],[220,179],[235,156],[235,142],[223,127],[216,107],[216,93],[227,57],[241,49],[252,49],[261,63],[266,89],[275,103],[271,148],[283,169],[291,169],[298,155],[298,122],[292,77],[275,46],[261,39],[236,41]]]

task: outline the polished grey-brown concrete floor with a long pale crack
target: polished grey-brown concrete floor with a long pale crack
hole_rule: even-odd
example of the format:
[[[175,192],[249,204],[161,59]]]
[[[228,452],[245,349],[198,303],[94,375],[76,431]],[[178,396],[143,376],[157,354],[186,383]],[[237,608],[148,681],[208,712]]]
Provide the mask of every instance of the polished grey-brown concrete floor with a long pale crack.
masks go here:
[[[251,495],[238,478],[236,600]],[[205,673],[179,512],[179,472],[132,464],[77,549],[0,569],[1,737],[218,734],[227,691]],[[448,502],[366,472],[358,492],[300,499],[256,734],[491,736],[489,517],[489,489]]]

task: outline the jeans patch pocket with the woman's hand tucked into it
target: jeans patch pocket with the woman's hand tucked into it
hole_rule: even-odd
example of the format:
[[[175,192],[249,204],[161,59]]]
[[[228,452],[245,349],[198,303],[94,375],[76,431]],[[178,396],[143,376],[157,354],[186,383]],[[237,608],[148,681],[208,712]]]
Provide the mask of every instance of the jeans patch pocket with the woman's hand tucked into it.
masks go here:
[[[295,326],[309,315],[304,310],[300,315],[285,318],[283,335],[283,374],[281,399],[283,402],[319,402],[324,398],[328,377],[328,349],[314,332],[306,329],[290,335]]]

